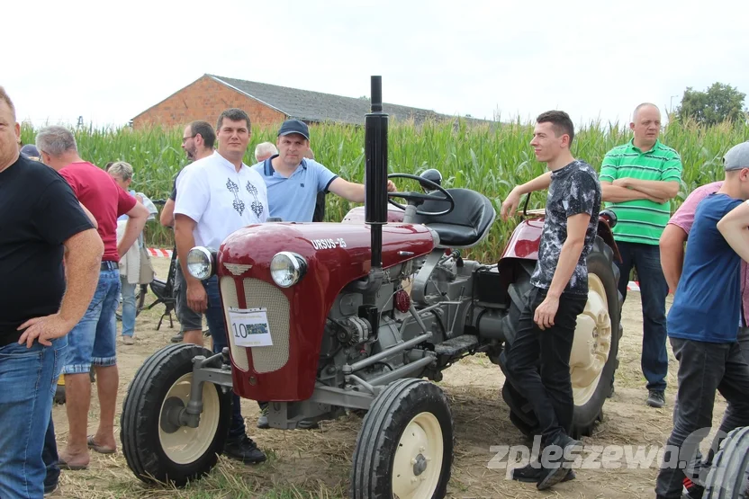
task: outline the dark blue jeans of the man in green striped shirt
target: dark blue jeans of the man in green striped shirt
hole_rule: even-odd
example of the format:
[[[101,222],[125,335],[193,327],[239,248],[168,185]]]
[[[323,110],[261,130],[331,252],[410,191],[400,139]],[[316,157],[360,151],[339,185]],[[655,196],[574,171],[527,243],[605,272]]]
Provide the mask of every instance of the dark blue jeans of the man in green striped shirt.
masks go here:
[[[642,370],[648,390],[664,391],[668,374],[666,350],[666,296],[668,283],[661,268],[661,250],[658,245],[621,243],[617,241],[622,263],[617,263],[619,292],[627,298],[627,283],[632,267],[640,281],[643,305]]]

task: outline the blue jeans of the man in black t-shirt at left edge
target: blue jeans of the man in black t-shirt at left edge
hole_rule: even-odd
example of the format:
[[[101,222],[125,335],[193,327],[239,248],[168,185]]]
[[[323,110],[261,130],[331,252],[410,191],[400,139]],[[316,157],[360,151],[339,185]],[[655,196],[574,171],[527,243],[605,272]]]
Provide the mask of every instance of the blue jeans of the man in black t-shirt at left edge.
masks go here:
[[[0,348],[0,497],[39,498],[47,476],[42,450],[66,337],[45,347],[11,343]]]

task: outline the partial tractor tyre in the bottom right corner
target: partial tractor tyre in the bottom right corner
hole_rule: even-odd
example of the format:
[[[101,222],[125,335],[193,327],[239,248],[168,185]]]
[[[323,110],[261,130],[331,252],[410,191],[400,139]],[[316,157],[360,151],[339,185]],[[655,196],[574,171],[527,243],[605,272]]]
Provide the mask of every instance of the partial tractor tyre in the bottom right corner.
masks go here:
[[[749,426],[736,428],[720,443],[705,482],[703,499],[749,497]]]

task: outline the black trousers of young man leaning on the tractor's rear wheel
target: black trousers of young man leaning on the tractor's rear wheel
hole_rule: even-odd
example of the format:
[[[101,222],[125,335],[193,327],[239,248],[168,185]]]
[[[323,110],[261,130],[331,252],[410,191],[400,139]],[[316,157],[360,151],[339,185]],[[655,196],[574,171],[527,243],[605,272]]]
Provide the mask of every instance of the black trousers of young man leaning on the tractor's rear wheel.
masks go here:
[[[542,330],[533,322],[533,316],[544,299],[546,290],[534,287],[530,291],[528,303],[520,314],[515,342],[507,352],[505,367],[510,383],[533,406],[542,441],[550,444],[563,434],[568,435],[572,427],[574,398],[570,353],[577,316],[585,308],[588,297],[563,293],[554,325]]]

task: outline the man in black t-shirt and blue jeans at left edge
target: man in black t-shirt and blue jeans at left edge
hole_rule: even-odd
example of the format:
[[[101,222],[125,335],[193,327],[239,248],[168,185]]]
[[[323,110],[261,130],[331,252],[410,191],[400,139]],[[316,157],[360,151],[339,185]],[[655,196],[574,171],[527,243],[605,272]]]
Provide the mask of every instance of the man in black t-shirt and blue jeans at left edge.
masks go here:
[[[68,183],[20,156],[0,87],[0,497],[41,497],[66,334],[94,297],[104,244]],[[63,263],[64,262],[64,263]],[[66,282],[67,279],[67,282]],[[67,290],[66,290],[67,287]],[[23,422],[19,424],[18,422]]]

